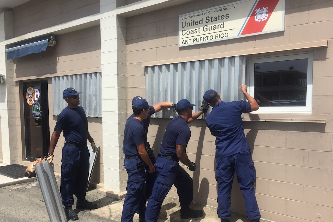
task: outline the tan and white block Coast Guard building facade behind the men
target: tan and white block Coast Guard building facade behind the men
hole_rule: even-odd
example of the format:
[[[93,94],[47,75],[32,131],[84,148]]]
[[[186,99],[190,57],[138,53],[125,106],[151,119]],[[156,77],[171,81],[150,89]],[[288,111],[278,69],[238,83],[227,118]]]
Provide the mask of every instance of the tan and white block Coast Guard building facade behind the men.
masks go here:
[[[231,13],[242,15],[242,4],[257,1],[18,2],[0,14],[0,161],[28,165],[45,155],[57,115],[66,106],[62,91],[74,87],[83,92],[89,131],[101,148],[91,183],[105,195],[122,197],[124,126],[134,96],[146,97],[151,105],[182,98],[199,105],[209,88],[224,101],[243,99],[238,87],[246,84],[260,105],[244,114],[243,124],[262,219],[333,221],[333,1],[277,0],[275,11],[258,9],[256,19],[269,26],[281,21],[282,28],[234,38],[224,31],[216,41],[195,35],[200,14],[217,13],[208,16],[211,22],[223,17],[219,27],[210,26],[218,31],[232,20]],[[193,25],[187,39],[182,17]],[[29,51],[28,44],[41,39],[48,40],[46,49]],[[30,54],[15,47],[29,48]],[[8,59],[10,49],[19,56]],[[164,110],[151,120],[148,141],[156,154],[175,115]],[[204,117],[190,124],[187,147],[197,165],[190,172],[193,202],[216,207],[215,138]],[[58,175],[63,142],[61,136],[54,153]],[[168,195],[177,196],[174,187]],[[236,179],[231,201],[232,211],[245,214]]]

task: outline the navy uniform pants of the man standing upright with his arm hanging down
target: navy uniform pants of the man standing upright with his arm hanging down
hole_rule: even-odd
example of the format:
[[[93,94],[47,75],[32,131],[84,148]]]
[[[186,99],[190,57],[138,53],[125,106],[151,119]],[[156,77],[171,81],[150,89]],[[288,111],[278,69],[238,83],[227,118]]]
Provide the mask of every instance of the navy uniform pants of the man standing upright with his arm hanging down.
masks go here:
[[[142,163],[137,167],[137,163]],[[123,205],[122,222],[132,222],[135,213],[144,217],[146,211],[145,198],[145,164],[140,159],[126,159],[125,169],[128,174],[126,196]]]

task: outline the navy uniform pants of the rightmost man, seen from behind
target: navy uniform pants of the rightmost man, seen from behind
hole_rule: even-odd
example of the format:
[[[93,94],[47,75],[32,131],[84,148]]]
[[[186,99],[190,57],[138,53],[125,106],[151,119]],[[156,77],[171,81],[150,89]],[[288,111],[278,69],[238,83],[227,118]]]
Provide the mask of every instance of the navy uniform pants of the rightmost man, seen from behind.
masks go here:
[[[245,151],[216,160],[217,181],[217,215],[228,219],[231,216],[231,187],[236,172],[237,181],[245,200],[246,216],[249,220],[260,218],[260,212],[255,198],[254,182],[256,172],[251,152]]]

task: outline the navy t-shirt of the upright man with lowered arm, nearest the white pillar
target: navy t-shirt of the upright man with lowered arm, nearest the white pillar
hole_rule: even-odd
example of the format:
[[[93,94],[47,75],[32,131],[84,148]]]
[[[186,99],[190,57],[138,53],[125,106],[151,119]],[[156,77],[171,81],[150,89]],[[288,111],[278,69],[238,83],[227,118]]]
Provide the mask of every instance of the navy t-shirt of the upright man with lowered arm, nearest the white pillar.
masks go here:
[[[137,145],[145,143],[146,147],[146,138],[147,135],[143,123],[136,118],[129,118],[125,124],[123,153],[129,156],[139,156]]]

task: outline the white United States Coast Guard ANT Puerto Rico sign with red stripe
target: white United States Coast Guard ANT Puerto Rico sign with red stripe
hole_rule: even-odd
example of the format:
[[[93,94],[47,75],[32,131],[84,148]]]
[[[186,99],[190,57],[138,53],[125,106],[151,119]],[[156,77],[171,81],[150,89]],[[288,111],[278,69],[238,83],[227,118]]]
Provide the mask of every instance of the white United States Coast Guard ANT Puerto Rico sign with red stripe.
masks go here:
[[[284,0],[243,0],[179,16],[179,47],[284,30]]]

